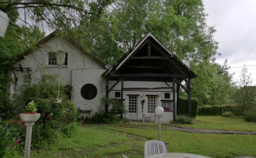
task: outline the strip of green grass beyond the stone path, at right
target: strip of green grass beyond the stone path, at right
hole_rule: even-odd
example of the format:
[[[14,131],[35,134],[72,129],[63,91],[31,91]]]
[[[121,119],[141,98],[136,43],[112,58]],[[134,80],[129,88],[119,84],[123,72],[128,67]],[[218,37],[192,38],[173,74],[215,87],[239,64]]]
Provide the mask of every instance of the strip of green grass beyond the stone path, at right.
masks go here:
[[[222,116],[197,116],[193,124],[175,124],[212,130],[256,131],[256,122],[246,122],[243,118],[224,118]]]

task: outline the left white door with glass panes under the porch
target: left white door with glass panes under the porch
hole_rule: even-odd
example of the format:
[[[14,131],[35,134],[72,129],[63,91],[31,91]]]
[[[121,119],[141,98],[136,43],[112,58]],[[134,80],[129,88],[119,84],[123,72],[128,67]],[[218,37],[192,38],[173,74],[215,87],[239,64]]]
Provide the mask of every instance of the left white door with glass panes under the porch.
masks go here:
[[[128,96],[129,107],[128,115],[129,119],[138,120],[138,96]]]

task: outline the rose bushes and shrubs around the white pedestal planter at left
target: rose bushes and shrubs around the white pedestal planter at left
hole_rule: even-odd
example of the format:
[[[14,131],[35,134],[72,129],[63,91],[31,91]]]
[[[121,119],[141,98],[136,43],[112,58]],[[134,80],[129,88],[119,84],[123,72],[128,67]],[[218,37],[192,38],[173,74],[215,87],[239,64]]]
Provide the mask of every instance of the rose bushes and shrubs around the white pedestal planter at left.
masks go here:
[[[35,122],[32,128],[32,149],[40,149],[56,143],[62,137],[70,137],[77,129],[77,112],[75,105],[70,100],[65,100],[63,86],[60,88],[60,94],[63,98],[61,103],[56,103],[56,94],[53,92],[57,92],[55,89],[58,88],[58,84],[52,76],[44,76],[37,85],[26,86],[24,92],[19,94],[20,97],[17,97],[23,98],[23,102],[19,103],[20,106],[24,109],[26,103],[28,105],[36,104],[37,112],[41,114],[40,119]],[[34,102],[29,102],[31,100]],[[16,100],[16,102],[19,102],[19,100]],[[23,112],[23,110],[17,111]],[[0,152],[3,154],[9,154],[10,145],[12,151],[17,152],[21,152],[24,147],[24,124],[19,119],[19,115],[15,115],[14,118],[6,120],[0,131],[3,136],[0,137],[2,139],[0,140],[1,145],[4,146],[0,149]],[[8,140],[17,140],[19,142],[17,144],[23,146],[18,148],[19,145],[15,145],[15,149],[13,149],[13,144],[10,144]]]

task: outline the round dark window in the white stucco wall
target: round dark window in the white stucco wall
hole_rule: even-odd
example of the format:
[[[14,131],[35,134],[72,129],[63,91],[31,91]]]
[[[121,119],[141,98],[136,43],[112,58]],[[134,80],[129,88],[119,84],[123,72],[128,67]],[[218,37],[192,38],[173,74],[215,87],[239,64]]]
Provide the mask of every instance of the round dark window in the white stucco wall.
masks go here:
[[[93,84],[83,85],[81,88],[81,95],[86,100],[92,100],[97,96],[97,88]]]

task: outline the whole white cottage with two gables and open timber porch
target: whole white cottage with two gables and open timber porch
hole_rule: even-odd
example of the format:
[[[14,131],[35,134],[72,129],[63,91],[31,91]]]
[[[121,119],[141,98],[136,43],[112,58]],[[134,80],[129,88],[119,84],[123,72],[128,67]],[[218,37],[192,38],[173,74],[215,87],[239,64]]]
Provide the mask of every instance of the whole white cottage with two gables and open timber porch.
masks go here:
[[[151,34],[109,70],[74,40],[67,36],[59,38],[55,32],[36,46],[35,51],[25,51],[10,70],[10,77],[15,81],[10,85],[11,95],[24,84],[26,77],[36,83],[44,73],[58,75],[56,52],[64,51],[61,82],[71,85],[71,101],[82,110],[82,115],[92,116],[103,111],[100,99],[110,97],[124,103],[127,110],[124,117],[128,119],[142,120],[143,116],[155,119],[155,107],[162,106],[163,121],[169,122],[175,120],[180,86],[188,93],[191,115],[190,80],[197,75]],[[185,81],[186,87],[181,81]]]

